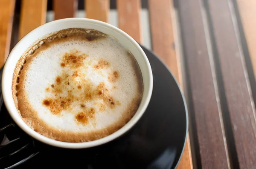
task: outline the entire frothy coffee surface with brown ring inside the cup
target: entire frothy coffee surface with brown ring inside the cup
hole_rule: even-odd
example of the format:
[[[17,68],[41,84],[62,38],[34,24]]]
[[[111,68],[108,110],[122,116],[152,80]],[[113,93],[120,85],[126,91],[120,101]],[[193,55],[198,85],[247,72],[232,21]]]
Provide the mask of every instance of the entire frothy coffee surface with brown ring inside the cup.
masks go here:
[[[87,142],[122,128],[137,112],[143,79],[134,56],[93,29],[64,29],[31,46],[13,74],[23,121],[53,140]]]

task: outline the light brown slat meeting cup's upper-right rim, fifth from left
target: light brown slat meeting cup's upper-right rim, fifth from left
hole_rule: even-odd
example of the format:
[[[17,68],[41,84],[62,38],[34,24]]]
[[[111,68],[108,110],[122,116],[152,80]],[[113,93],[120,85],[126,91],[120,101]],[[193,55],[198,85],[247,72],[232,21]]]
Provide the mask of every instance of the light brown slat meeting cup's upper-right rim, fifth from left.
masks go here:
[[[134,40],[142,43],[140,25],[140,0],[117,0],[119,28],[128,33]]]

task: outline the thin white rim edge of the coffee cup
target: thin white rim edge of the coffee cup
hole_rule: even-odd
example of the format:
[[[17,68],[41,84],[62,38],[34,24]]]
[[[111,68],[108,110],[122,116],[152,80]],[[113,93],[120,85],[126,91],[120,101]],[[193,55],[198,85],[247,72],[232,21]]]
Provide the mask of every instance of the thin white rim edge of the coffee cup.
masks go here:
[[[15,51],[15,49],[17,48],[17,46],[20,43],[23,43],[23,41],[26,40],[26,37],[29,36],[29,34],[32,34],[32,32],[36,32],[38,31],[38,29],[40,29],[41,27],[45,27],[45,26],[51,26],[54,24],[58,24],[61,22],[86,22],[86,23],[92,23],[92,24],[96,24],[98,26],[102,26],[105,27],[106,29],[112,29],[115,32],[118,32],[119,34],[121,34],[123,37],[125,37],[127,40],[129,40],[134,47],[140,52],[141,56],[143,56],[143,60],[146,64],[146,69],[148,72],[148,91],[147,92],[147,96],[145,97],[144,103],[143,105],[140,104],[140,112],[136,112],[135,114],[138,115],[134,115],[131,120],[129,120],[128,123],[125,124],[125,126],[123,126],[121,129],[117,130],[116,132],[112,133],[111,135],[108,135],[106,137],[100,138],[98,140],[93,140],[93,141],[89,141],[89,142],[81,142],[81,143],[70,143],[70,142],[62,142],[62,141],[58,141],[58,140],[52,140],[48,137],[45,137],[41,134],[39,134],[38,132],[35,132],[33,129],[31,129],[29,126],[27,126],[27,124],[23,121],[23,119],[19,116],[17,116],[15,114],[15,112],[13,112],[13,106],[11,105],[11,103],[8,102],[7,98],[8,97],[12,97],[9,96],[9,94],[6,92],[7,89],[9,89],[10,86],[8,86],[5,83],[5,80],[7,76],[10,76],[10,73],[7,71],[7,66],[12,62],[12,55]],[[43,37],[44,35],[42,35]],[[13,74],[13,72],[12,72]],[[145,82],[143,82],[145,83]],[[3,76],[2,76],[2,94],[3,94],[3,100],[4,100],[4,104],[6,105],[6,109],[9,112],[9,115],[12,117],[12,119],[15,121],[15,123],[17,124],[17,126],[19,126],[24,132],[26,132],[26,134],[28,134],[29,136],[33,137],[36,140],[41,141],[42,143],[46,143],[48,145],[51,146],[56,146],[56,147],[60,147],[60,148],[68,148],[68,149],[84,149],[84,148],[90,148],[90,147],[95,147],[95,146],[99,146],[105,143],[108,143],[118,137],[120,137],[121,135],[125,134],[126,132],[128,132],[128,130],[130,130],[142,117],[142,115],[144,114],[148,103],[151,99],[151,94],[152,94],[152,90],[153,90],[153,75],[152,75],[152,70],[151,70],[151,66],[150,63],[148,61],[148,58],[146,56],[146,54],[144,53],[143,49],[140,47],[140,45],[132,38],[130,37],[127,33],[123,32],[121,29],[116,28],[115,26],[112,26],[111,24],[99,21],[99,20],[93,20],[93,19],[88,19],[88,18],[66,18],[66,19],[61,19],[61,20],[55,20],[49,23],[45,23],[44,25],[41,25],[35,29],[33,29],[31,32],[29,32],[28,34],[26,34],[16,45],[15,47],[12,49],[12,51],[9,54],[9,57],[6,60],[5,66],[3,68]],[[143,96],[145,95],[145,92],[143,92]],[[13,99],[13,98],[12,98]],[[15,107],[16,109],[16,107]],[[16,109],[17,111],[17,109]]]

